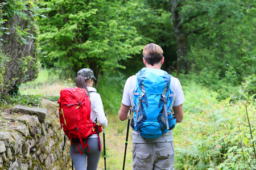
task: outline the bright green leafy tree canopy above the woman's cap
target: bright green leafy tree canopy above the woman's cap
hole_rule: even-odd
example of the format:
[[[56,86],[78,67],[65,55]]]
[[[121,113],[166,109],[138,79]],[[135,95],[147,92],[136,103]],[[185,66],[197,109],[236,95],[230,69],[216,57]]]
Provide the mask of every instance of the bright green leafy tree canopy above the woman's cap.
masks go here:
[[[101,71],[124,68],[123,59],[141,52],[142,37],[134,24],[143,10],[135,1],[44,1],[51,8],[39,21],[40,57],[46,66],[68,74],[90,67]],[[67,62],[68,61],[68,62]]]

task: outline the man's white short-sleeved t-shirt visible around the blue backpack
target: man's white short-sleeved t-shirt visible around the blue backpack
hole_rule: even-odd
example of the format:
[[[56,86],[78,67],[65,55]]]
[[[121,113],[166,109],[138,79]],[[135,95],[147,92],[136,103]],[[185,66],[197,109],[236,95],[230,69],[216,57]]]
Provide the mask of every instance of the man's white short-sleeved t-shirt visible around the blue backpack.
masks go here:
[[[133,102],[133,91],[136,86],[137,75],[130,76],[125,83],[125,87],[123,89],[123,98],[122,104],[127,106],[134,106]],[[179,106],[184,103],[185,97],[183,94],[183,90],[180,84],[179,79],[171,76],[171,89],[174,92],[174,106]],[[172,130],[169,130],[166,134],[162,135],[156,139],[147,139],[138,135],[138,132],[133,129],[133,143],[152,143],[152,142],[172,142],[174,138],[172,137]]]

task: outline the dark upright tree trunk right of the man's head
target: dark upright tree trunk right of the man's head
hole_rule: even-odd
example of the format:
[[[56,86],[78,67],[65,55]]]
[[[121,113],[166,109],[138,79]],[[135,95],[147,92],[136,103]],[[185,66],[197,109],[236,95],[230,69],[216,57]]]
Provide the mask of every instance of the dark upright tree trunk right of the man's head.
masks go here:
[[[174,28],[175,39],[177,44],[177,74],[188,73],[187,36],[183,32],[183,23],[181,22],[181,16],[179,14],[181,4],[179,0],[170,0],[170,5],[172,13],[172,27]]]

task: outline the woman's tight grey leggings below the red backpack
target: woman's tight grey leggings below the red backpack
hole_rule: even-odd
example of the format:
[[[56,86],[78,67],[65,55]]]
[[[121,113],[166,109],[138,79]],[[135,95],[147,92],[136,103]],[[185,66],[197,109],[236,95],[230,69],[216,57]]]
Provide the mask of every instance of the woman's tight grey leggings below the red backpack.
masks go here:
[[[77,148],[77,145],[75,142],[73,142],[75,145],[70,146],[70,155],[72,158],[72,161],[75,165],[76,170],[86,170],[86,159],[87,159],[87,169],[88,170],[97,170],[98,161],[100,160],[101,151],[99,151],[99,145],[98,145],[98,137],[97,138],[88,138],[88,148],[82,149],[80,141],[77,141],[79,144],[79,148],[82,152],[82,155],[79,152],[79,148]],[[86,140],[84,139],[84,143],[86,144]],[[102,148],[102,147],[101,147]],[[74,152],[75,151],[75,152]],[[76,153],[76,155],[75,155]]]

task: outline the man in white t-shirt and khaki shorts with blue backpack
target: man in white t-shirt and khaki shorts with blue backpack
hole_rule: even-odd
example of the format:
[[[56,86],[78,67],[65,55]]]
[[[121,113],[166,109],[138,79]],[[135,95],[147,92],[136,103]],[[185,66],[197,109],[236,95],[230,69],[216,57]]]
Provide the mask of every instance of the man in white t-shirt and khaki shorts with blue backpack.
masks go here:
[[[172,137],[171,129],[174,128],[175,123],[172,125],[172,121],[175,122],[175,118],[177,123],[183,120],[182,104],[185,101],[185,97],[179,80],[167,74],[166,71],[160,70],[163,62],[163,50],[159,45],[151,43],[144,46],[143,63],[146,68],[139,71],[137,75],[130,76],[130,78],[126,80],[123,90],[122,104],[118,116],[121,121],[126,120],[129,118],[130,108],[133,108],[134,117],[131,121],[131,128],[133,128],[133,170],[174,169],[174,138]],[[156,94],[154,90],[157,91],[160,88],[158,80],[154,82],[154,79],[158,78],[158,76],[156,76],[158,74],[161,76],[160,80],[163,84],[166,83],[166,87],[163,88],[163,94],[160,94],[161,100],[155,102],[156,105],[159,105],[160,110],[159,113],[146,113],[149,112],[147,109],[152,108],[149,106],[150,104],[148,104],[150,103],[149,100],[151,100],[150,95]],[[152,79],[151,82],[153,83],[150,85],[151,93],[147,94],[147,84],[143,83],[147,83],[150,79]],[[143,84],[143,86],[138,86],[139,83]],[[142,92],[138,93],[135,91],[135,88],[137,91]],[[166,92],[166,89],[168,90],[169,88],[170,94],[168,91]],[[134,97],[135,95],[138,95],[137,98]],[[161,104],[162,108],[160,107]],[[171,106],[166,107],[166,104]],[[156,109],[159,108],[156,107]],[[174,117],[172,117],[172,111]],[[135,114],[137,115],[135,116]],[[160,116],[158,116],[156,122],[150,122],[148,126],[144,126],[147,119],[149,120],[150,117],[152,117],[150,116],[152,114],[157,114],[156,116],[159,114]],[[172,120],[169,121],[169,118]],[[157,121],[159,121],[159,123]],[[144,130],[147,131],[147,127],[152,128],[152,124],[154,124],[154,126],[155,124],[159,124],[160,129],[162,129],[162,133],[159,134],[160,136],[157,135],[156,138],[154,134],[155,129],[148,130],[149,133],[153,131],[152,134],[144,134],[143,132]]]

